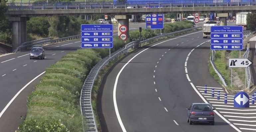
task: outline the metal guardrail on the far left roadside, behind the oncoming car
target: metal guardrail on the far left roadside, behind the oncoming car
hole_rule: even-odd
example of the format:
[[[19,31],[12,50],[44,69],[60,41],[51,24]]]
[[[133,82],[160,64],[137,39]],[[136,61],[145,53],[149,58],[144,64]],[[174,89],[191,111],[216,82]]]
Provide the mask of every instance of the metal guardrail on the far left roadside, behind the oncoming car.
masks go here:
[[[35,40],[34,42],[25,42],[27,43],[26,45],[21,45],[19,46],[17,49],[15,49],[13,52],[18,52],[18,51],[22,51],[22,50],[30,50],[33,45],[40,45],[40,46],[44,46],[44,45],[48,45],[51,43],[59,43],[62,41],[68,41],[68,40],[73,40],[73,39],[78,39],[80,38],[81,35],[75,35],[75,36],[69,36],[69,37],[64,37],[64,38],[59,38],[59,39],[53,39],[53,40],[45,40],[45,41],[39,41],[39,40]],[[48,39],[48,38],[46,38]],[[38,41],[38,42],[37,42]],[[24,44],[24,43],[23,43]]]

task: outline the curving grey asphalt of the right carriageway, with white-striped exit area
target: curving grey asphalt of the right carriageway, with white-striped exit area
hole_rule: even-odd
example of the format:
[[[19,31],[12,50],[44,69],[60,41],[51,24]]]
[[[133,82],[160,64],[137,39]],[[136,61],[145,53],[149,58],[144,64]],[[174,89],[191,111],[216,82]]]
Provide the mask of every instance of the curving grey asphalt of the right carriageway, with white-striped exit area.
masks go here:
[[[224,89],[208,70],[210,43],[194,32],[144,46],[125,56],[105,75],[97,111],[103,132],[234,132],[255,131],[250,109],[233,109],[203,93]],[[215,91],[216,93],[216,91]],[[191,103],[207,102],[215,111],[215,125],[187,123]],[[252,112],[250,112],[252,111]],[[249,115],[249,116],[248,116]],[[228,122],[228,123],[227,123]]]

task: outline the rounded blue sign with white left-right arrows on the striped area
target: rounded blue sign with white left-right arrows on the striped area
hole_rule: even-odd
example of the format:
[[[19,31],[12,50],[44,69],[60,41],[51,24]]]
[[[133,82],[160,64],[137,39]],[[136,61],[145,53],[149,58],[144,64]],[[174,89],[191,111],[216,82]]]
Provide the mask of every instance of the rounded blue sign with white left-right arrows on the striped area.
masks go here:
[[[249,108],[249,96],[246,92],[238,92],[234,96],[234,108]]]

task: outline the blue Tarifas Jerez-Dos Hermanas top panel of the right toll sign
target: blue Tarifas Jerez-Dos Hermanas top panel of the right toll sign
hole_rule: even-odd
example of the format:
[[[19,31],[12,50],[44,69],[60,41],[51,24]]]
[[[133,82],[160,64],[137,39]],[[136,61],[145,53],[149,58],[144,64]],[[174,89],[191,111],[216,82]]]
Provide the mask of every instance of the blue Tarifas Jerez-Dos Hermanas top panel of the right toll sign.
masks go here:
[[[243,26],[211,26],[211,33],[243,33]]]

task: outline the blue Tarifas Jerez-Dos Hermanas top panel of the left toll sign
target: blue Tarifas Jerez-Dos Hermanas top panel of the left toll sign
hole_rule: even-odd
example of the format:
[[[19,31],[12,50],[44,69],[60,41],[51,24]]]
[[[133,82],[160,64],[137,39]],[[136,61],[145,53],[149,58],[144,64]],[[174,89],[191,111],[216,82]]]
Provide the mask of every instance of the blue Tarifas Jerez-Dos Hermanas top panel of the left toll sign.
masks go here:
[[[112,24],[82,24],[81,31],[113,31]]]

